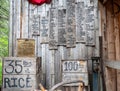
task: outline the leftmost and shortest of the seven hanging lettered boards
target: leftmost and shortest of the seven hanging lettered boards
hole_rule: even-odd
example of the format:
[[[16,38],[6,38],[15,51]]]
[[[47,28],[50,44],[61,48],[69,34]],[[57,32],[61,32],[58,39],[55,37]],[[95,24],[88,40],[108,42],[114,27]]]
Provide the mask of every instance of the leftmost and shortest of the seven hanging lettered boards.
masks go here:
[[[40,15],[32,15],[30,18],[30,31],[33,36],[40,36]]]

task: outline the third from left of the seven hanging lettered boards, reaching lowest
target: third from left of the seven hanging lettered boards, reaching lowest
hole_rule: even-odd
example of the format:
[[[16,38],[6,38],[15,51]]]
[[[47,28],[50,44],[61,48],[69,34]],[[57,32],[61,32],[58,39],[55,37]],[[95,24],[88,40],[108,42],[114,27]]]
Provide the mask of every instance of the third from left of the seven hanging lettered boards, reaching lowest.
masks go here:
[[[58,44],[58,28],[57,28],[57,8],[50,8],[49,12],[50,23],[49,23],[49,49],[57,49]]]

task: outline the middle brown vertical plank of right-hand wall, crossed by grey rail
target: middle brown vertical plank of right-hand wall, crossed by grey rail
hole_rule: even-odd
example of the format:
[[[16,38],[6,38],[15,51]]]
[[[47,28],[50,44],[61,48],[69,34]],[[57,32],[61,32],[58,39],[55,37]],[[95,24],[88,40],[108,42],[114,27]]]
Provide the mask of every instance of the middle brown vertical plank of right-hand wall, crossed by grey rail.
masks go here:
[[[115,60],[115,37],[114,37],[114,17],[112,17],[111,2],[107,4],[107,41],[108,41],[108,60]],[[106,68],[107,91],[116,91],[116,72],[114,69]]]

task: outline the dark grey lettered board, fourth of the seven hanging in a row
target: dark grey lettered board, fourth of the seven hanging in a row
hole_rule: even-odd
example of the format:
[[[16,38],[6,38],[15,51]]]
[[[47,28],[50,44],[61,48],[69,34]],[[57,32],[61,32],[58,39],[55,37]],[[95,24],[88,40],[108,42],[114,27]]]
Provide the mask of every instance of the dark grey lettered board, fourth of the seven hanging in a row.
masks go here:
[[[66,45],[66,9],[58,9],[58,45]]]

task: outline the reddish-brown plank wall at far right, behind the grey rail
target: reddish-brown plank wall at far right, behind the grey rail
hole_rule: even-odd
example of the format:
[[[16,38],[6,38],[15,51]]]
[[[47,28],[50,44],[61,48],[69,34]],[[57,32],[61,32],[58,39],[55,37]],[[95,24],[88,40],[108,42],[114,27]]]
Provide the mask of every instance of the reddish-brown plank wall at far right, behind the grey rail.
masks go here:
[[[101,34],[103,37],[103,60],[120,60],[120,7],[119,0],[103,0],[99,3]],[[119,70],[105,67],[106,90],[120,91]]]

